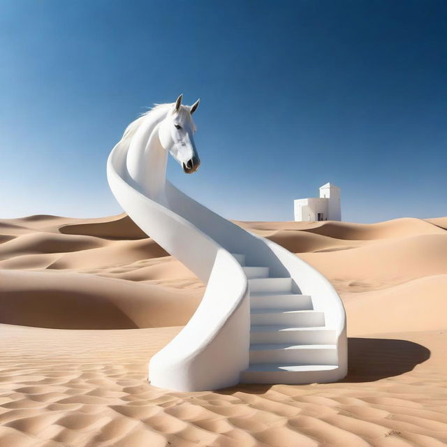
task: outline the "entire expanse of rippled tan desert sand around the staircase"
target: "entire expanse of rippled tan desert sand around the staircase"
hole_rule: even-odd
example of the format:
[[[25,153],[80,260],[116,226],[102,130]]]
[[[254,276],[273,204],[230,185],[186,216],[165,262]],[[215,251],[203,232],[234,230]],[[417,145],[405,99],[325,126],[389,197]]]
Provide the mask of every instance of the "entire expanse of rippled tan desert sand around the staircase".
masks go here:
[[[152,387],[203,284],[124,214],[5,219],[0,446],[446,446],[447,218],[237,223],[337,288],[346,379]]]

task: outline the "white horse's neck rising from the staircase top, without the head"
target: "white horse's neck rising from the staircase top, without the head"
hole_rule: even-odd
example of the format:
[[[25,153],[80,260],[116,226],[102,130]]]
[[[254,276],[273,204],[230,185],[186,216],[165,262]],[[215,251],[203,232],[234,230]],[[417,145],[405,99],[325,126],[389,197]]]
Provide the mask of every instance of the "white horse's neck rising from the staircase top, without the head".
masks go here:
[[[156,200],[164,200],[168,152],[159,140],[159,124],[166,110],[154,110],[140,124],[131,138],[126,165],[140,192]]]

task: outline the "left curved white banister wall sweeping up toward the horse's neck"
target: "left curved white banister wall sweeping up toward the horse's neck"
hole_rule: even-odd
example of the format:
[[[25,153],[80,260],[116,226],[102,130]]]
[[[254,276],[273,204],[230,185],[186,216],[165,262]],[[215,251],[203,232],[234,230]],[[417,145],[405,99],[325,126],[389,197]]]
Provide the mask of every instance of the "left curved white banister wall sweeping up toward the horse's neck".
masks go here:
[[[189,323],[152,358],[149,378],[156,386],[177,390],[233,385],[248,365],[247,278],[228,251],[126,182],[125,151],[124,145],[117,145],[108,159],[108,181],[118,202],[145,233],[207,283]]]

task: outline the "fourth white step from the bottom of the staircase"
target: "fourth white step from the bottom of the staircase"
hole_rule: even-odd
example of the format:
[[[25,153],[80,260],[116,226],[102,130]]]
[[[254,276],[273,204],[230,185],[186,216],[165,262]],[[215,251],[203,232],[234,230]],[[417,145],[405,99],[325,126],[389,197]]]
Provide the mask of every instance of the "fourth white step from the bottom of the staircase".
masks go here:
[[[324,312],[316,310],[251,309],[252,325],[324,326]]]

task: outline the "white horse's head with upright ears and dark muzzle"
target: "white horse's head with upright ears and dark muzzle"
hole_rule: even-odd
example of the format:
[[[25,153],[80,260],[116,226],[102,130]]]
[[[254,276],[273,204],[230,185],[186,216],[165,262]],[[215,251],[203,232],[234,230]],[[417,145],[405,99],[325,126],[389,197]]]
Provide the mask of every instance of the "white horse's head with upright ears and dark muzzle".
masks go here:
[[[159,139],[164,149],[180,163],[184,172],[192,174],[200,166],[193,138],[197,128],[192,118],[200,99],[189,106],[182,105],[182,98],[183,95],[177,98],[171,112],[168,112],[166,118],[160,123]]]

